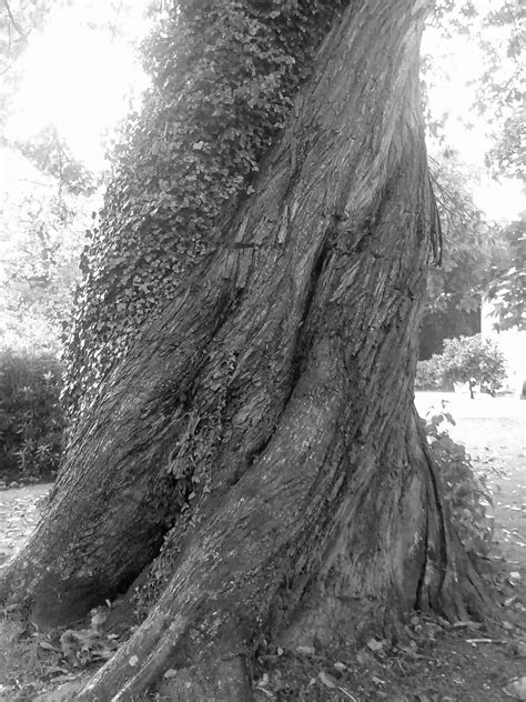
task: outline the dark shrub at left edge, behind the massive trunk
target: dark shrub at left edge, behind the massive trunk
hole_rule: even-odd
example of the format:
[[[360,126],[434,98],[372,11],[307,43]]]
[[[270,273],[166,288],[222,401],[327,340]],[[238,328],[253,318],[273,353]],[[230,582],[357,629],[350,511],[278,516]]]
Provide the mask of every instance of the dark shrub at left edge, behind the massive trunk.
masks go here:
[[[61,365],[49,339],[36,334],[30,348],[27,334],[12,331],[0,329],[0,475],[8,482],[51,479],[63,432]]]

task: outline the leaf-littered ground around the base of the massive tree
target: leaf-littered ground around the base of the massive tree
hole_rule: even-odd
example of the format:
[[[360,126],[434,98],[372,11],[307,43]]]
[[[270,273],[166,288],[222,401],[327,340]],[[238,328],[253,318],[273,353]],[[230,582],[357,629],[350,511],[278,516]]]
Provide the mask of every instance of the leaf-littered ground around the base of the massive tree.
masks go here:
[[[397,645],[376,639],[362,649],[271,645],[254,671],[257,702],[526,700],[526,401],[431,392],[416,397],[421,415],[431,405],[441,409],[443,401],[456,421],[453,439],[466,445],[476,472],[487,477],[494,492],[492,579],[503,603],[502,620],[452,625],[415,614],[407,621],[406,641]],[[47,490],[34,485],[0,492],[0,563],[33,528]],[[87,671],[61,658],[58,639],[4,621],[0,702],[74,699],[75,681]],[[64,696],[61,690],[69,692]]]

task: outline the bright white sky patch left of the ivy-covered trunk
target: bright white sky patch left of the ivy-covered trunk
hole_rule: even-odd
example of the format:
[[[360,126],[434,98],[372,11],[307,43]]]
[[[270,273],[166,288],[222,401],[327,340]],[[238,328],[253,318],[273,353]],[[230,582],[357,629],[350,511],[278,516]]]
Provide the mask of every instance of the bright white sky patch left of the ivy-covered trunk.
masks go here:
[[[138,34],[140,21],[136,13],[130,20]],[[51,13],[43,33],[31,38],[23,60],[26,77],[8,136],[23,139],[54,124],[73,154],[99,170],[104,133],[148,84],[131,41],[94,31],[78,6],[63,8]]]

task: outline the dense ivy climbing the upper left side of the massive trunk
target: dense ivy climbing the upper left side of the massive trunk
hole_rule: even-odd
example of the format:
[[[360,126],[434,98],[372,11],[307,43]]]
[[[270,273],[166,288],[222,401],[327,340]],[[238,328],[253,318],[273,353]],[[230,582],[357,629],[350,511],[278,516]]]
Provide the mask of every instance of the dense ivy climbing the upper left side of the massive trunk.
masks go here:
[[[252,192],[259,162],[344,4],[182,1],[148,40],[153,88],[124,127],[82,257],[65,355],[73,410],[80,388],[97,391],[138,328],[218,245],[221,212]]]

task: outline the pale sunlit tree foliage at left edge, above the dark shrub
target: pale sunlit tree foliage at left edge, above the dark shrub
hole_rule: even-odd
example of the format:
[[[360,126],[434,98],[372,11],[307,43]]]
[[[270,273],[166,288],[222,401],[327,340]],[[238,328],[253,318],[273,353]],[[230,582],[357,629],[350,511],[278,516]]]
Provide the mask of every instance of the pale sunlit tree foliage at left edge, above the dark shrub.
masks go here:
[[[20,158],[18,149],[34,167]],[[41,318],[58,338],[79,281],[90,205],[97,203],[90,198],[92,177],[72,159],[53,130],[3,153],[24,177],[18,189],[2,193],[2,311],[20,322]]]

